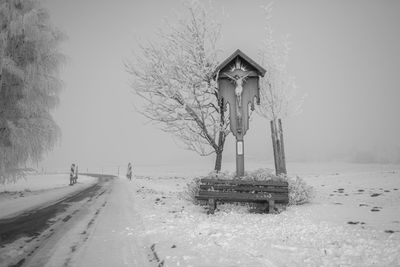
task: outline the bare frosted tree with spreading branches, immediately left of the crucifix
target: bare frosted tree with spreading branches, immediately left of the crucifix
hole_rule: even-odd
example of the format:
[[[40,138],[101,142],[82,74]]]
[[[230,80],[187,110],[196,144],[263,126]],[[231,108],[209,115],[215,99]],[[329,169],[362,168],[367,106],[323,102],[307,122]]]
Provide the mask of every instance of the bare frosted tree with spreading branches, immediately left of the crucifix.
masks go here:
[[[215,153],[219,171],[229,127],[213,80],[220,24],[211,10],[199,2],[185,4],[186,16],[166,23],[160,40],[142,45],[126,68],[134,93],[144,100],[139,112],[186,149]]]

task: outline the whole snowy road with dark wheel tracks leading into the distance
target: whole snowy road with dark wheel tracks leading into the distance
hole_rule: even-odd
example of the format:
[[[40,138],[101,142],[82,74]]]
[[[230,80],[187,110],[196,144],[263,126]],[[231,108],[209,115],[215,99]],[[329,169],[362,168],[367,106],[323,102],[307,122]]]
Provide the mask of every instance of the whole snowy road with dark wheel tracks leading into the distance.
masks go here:
[[[133,191],[126,179],[102,176],[77,195],[2,220],[0,266],[149,266]]]

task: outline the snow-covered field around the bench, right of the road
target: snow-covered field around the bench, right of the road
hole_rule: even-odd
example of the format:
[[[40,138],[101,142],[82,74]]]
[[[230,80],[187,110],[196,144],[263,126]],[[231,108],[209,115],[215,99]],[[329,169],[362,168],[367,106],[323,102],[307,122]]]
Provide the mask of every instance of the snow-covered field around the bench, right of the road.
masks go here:
[[[288,166],[316,198],[279,215],[219,205],[208,216],[182,197],[185,176],[139,175],[141,238],[166,266],[400,266],[399,166]]]

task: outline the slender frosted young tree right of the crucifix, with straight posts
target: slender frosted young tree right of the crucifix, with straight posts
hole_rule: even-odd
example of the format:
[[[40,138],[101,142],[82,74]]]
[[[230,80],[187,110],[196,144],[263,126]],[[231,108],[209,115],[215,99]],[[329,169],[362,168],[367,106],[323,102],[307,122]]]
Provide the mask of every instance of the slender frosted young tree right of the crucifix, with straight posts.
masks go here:
[[[261,65],[267,70],[260,80],[260,102],[257,113],[270,121],[276,174],[286,174],[282,121],[300,112],[304,97],[296,94],[295,78],[287,71],[290,51],[288,36],[281,42],[273,37],[272,3],[264,7],[265,37],[259,50]]]

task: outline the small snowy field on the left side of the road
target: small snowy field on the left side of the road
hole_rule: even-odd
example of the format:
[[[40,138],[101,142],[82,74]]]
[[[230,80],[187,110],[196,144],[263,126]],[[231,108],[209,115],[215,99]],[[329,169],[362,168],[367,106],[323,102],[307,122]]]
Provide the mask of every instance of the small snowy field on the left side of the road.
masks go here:
[[[69,186],[69,174],[28,175],[16,183],[0,185],[0,218],[15,216],[24,210],[54,202],[97,181],[79,175],[78,183]]]

